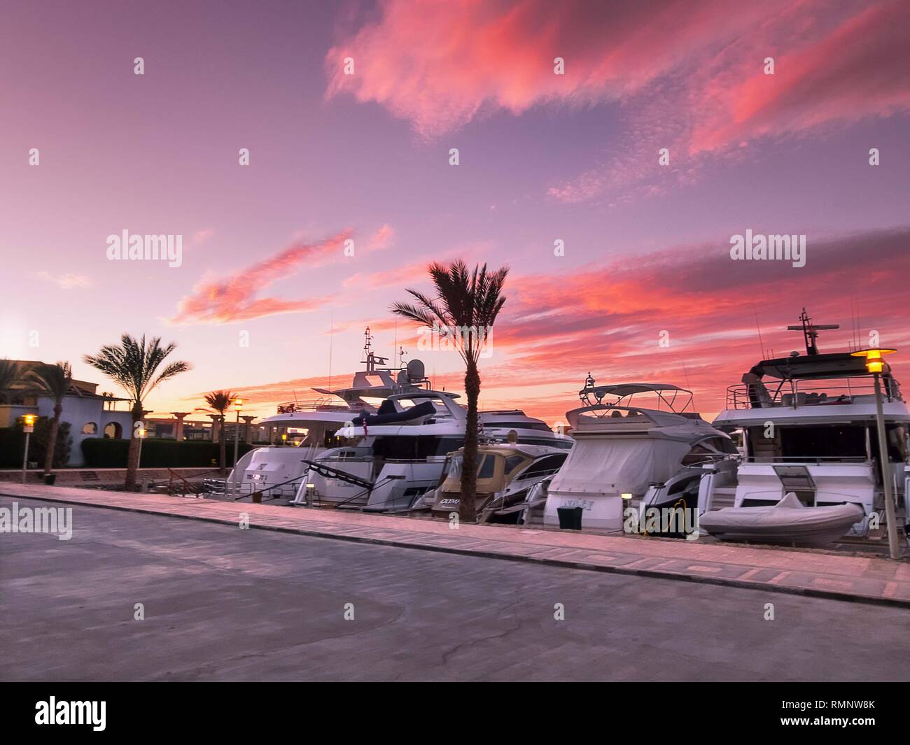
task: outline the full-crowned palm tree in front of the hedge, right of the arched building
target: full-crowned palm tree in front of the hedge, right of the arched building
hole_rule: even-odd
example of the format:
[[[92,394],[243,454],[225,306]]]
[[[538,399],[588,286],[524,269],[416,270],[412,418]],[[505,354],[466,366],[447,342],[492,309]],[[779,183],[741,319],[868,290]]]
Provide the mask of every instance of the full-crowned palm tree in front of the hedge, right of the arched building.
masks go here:
[[[139,468],[139,440],[136,438],[136,422],[142,421],[142,401],[158,385],[179,373],[192,369],[188,362],[171,362],[160,373],[158,367],[164,362],[176,344],[161,346],[161,338],[136,339],[124,334],[119,345],[105,345],[96,355],[86,355],[87,365],[95,367],[126,390],[133,400],[133,436],[129,438],[129,455],[126,458],[126,489],[136,487],[136,469]]]

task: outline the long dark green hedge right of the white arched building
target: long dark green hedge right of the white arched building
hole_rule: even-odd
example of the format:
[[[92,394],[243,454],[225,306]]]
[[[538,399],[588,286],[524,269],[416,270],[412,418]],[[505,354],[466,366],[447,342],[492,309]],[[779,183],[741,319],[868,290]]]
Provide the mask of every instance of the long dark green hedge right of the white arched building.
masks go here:
[[[142,443],[141,468],[217,468],[217,442],[147,438]],[[239,456],[253,449],[240,443]],[[82,456],[86,468],[126,468],[128,439],[86,438],[82,441]],[[227,468],[234,458],[234,443],[227,443]],[[213,467],[212,462],[215,466]]]

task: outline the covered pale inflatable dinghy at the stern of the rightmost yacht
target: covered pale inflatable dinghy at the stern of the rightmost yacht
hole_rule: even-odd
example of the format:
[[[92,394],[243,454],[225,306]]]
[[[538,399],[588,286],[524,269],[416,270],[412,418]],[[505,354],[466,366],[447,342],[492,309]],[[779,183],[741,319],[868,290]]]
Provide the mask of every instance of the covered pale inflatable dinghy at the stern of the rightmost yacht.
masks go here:
[[[705,512],[699,527],[721,540],[820,546],[839,539],[864,515],[856,504],[806,507],[791,491],[770,507],[725,507]]]

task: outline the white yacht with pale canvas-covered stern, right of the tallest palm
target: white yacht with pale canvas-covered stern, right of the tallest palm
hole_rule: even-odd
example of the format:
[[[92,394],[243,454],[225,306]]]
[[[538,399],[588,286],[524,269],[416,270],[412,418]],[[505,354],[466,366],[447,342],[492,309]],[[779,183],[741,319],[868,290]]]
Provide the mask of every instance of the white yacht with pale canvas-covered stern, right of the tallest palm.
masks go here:
[[[544,525],[560,526],[560,509],[580,508],[581,529],[605,532],[623,529],[628,508],[694,509],[702,464],[721,464],[720,473],[734,468],[733,440],[692,410],[685,388],[597,386],[589,374],[579,396],[585,406],[566,414],[575,440],[569,458],[530,495],[530,508],[546,495]],[[647,406],[638,405],[642,398]]]

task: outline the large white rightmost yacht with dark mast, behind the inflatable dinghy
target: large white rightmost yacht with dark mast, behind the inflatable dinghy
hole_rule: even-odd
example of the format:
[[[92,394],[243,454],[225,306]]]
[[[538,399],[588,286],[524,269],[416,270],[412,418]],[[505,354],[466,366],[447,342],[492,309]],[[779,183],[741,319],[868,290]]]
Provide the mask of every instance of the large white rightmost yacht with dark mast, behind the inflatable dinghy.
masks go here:
[[[742,463],[727,487],[714,485],[706,469],[700,509],[717,509],[731,498],[735,508],[769,507],[792,492],[810,508],[858,505],[862,516],[847,535],[863,537],[873,513],[885,523],[874,381],[863,357],[819,352],[818,331],[837,326],[812,324],[805,309],[800,320],[788,328],[803,332],[805,354],[763,359],[741,385],[727,389],[714,426],[742,431]],[[881,379],[888,478],[901,507],[910,488],[910,411],[887,365]]]

